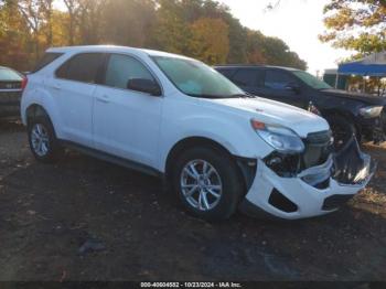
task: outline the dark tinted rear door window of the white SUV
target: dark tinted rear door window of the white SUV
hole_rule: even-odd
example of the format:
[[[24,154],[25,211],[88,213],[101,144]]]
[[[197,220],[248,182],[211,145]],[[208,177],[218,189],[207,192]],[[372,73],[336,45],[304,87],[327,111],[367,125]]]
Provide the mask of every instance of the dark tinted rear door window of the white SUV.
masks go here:
[[[57,71],[58,78],[95,84],[105,60],[104,53],[82,53],[64,63]]]

